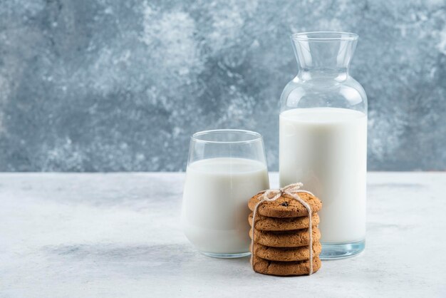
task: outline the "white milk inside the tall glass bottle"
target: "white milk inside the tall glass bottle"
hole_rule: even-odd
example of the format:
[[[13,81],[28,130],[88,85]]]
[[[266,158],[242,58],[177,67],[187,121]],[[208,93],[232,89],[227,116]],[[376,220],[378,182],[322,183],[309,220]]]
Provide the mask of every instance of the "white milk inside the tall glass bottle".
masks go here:
[[[302,182],[323,202],[321,242],[365,239],[367,116],[343,108],[296,108],[279,120],[281,187]]]

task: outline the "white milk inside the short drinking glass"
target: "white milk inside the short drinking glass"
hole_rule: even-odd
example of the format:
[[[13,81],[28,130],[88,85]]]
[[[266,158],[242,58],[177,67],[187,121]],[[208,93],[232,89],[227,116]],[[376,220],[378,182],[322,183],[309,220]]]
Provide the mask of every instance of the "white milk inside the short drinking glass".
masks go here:
[[[244,158],[209,158],[187,166],[182,227],[202,252],[249,252],[248,201],[269,188],[266,165]]]

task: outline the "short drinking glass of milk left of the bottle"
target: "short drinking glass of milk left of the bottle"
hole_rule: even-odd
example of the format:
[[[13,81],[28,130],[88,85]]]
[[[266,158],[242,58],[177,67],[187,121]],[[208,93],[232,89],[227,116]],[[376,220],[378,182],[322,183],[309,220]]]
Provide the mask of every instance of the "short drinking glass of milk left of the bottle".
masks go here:
[[[210,257],[249,255],[248,201],[269,189],[263,139],[249,130],[192,135],[182,202],[182,228]]]

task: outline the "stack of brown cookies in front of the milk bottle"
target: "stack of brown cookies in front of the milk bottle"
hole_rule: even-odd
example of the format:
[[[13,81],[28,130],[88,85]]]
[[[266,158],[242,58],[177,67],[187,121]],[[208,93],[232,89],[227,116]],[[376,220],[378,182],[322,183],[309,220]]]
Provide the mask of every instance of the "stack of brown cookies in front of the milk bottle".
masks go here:
[[[254,211],[261,201],[263,192],[249,200],[249,209]],[[311,227],[313,235],[313,272],[321,267],[318,255],[321,253],[321,232],[317,226],[321,201],[307,192],[299,197],[311,207]],[[252,217],[249,215],[252,240]],[[254,271],[271,275],[304,275],[310,273],[310,251],[308,211],[304,205],[288,194],[274,201],[261,202],[257,208],[254,224],[254,251],[251,251],[251,264]],[[252,249],[251,249],[252,250]]]

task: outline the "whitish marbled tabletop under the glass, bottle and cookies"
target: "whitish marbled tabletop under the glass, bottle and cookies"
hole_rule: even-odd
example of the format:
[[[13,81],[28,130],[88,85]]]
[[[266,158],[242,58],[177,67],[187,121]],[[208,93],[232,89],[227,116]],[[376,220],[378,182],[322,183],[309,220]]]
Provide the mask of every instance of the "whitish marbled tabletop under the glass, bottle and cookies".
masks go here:
[[[289,278],[200,255],[183,179],[0,174],[0,297],[446,297],[446,173],[369,173],[365,252]]]

